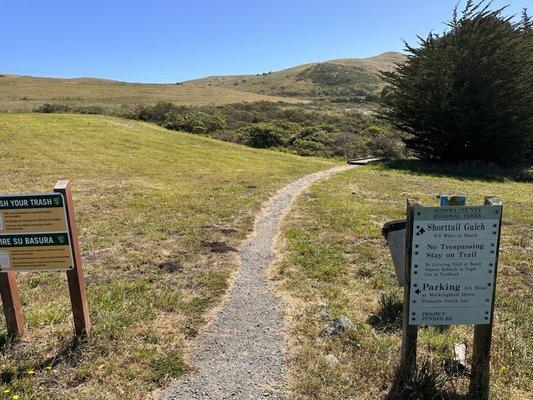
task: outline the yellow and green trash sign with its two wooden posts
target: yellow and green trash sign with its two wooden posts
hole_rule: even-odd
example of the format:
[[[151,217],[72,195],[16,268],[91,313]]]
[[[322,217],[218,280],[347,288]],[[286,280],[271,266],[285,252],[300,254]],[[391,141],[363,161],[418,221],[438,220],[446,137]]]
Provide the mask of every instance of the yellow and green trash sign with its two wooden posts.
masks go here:
[[[0,294],[10,336],[24,333],[16,272],[67,271],[77,336],[91,324],[72,192],[68,181],[53,193],[0,196]]]

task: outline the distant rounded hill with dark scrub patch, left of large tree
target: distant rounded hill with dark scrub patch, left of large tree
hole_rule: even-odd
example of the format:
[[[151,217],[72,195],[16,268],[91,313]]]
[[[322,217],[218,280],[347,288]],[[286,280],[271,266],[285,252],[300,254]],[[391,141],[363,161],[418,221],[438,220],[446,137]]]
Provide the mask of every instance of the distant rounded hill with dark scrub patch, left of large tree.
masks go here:
[[[213,76],[184,83],[184,86],[232,88],[285,97],[376,95],[382,88],[379,71],[388,71],[405,55],[387,52],[370,58],[346,58],[299,65],[257,75]]]

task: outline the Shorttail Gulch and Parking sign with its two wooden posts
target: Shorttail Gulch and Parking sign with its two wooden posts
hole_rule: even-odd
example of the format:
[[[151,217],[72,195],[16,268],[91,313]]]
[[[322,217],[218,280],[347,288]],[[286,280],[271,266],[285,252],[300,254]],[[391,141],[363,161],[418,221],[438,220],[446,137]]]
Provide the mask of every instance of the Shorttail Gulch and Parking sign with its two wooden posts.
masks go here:
[[[487,400],[502,205],[423,207],[408,200],[401,369],[416,371],[421,325],[474,324],[470,395]]]

